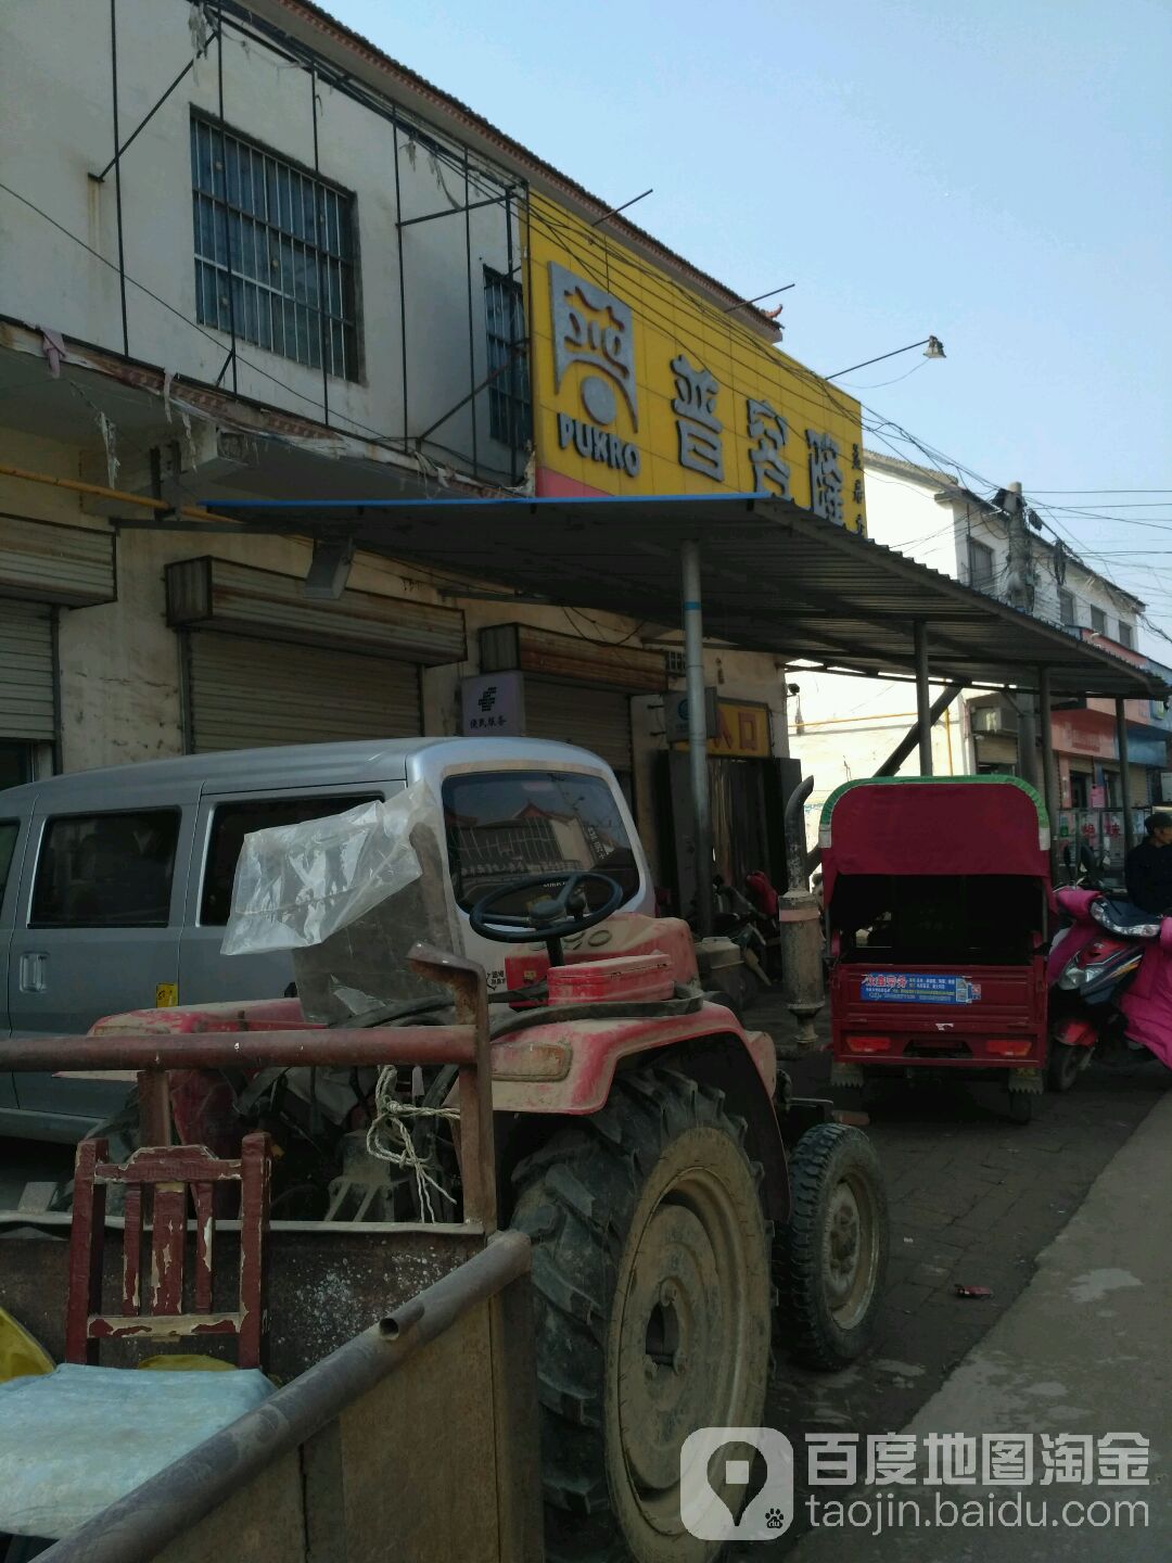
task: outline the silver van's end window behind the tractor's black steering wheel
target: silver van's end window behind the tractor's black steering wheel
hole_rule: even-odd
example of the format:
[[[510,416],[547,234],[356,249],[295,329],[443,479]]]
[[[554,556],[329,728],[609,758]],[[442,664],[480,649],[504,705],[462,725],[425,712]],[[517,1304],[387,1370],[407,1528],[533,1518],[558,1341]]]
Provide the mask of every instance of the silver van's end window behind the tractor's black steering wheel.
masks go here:
[[[452,889],[467,911],[500,885],[534,874],[594,869],[617,880],[630,900],[639,891],[639,864],[619,807],[600,777],[570,771],[500,771],[448,777],[444,825]],[[531,894],[531,892],[530,892]],[[502,902],[500,911],[522,913]],[[591,905],[606,900],[589,888]]]

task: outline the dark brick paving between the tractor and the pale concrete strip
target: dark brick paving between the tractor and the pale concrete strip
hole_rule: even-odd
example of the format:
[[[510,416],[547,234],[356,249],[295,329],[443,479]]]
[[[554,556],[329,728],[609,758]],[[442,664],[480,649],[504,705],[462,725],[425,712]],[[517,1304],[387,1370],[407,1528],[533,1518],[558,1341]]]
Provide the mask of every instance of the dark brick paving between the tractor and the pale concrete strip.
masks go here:
[[[766,1025],[770,1016],[761,1007],[752,1019]],[[789,1068],[799,1093],[831,1094],[825,1053]],[[1158,1064],[1130,1074],[1092,1064],[1072,1091],[1041,1097],[1028,1125],[1008,1119],[1005,1096],[992,1086],[891,1088],[869,1099],[867,1133],[892,1218],[878,1343],[841,1374],[778,1363],[769,1424],[795,1449],[806,1432],[905,1427],[1030,1283],[1041,1252],[1170,1085]],[[994,1296],[964,1300],[956,1283],[991,1286]],[[747,1549],[745,1563],[788,1550],[797,1533]],[[841,1555],[853,1557],[845,1538]]]

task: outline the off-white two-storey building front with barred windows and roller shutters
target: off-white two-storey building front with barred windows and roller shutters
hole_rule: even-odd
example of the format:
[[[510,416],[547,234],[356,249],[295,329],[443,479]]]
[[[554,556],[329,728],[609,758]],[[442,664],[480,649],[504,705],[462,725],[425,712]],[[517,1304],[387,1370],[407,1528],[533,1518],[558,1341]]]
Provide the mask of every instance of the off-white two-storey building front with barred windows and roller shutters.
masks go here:
[[[558,638],[553,675],[525,674],[528,731],[614,764],[670,883],[681,667],[661,627],[511,597],[458,560],[206,519],[231,499],[531,492],[525,199],[605,203],[298,0],[13,0],[0,102],[0,788],[456,733],[486,644],[500,669],[492,631],[522,625]],[[766,778],[767,835],[784,671],[713,650],[708,677],[717,758]]]

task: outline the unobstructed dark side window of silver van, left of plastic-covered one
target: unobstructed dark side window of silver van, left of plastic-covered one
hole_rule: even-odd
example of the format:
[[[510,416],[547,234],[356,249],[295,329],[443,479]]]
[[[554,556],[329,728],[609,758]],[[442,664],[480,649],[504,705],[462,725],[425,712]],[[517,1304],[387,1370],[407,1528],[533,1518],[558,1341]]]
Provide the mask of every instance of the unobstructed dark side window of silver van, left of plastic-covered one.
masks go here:
[[[166,928],[177,808],[50,819],[33,886],[34,928]]]

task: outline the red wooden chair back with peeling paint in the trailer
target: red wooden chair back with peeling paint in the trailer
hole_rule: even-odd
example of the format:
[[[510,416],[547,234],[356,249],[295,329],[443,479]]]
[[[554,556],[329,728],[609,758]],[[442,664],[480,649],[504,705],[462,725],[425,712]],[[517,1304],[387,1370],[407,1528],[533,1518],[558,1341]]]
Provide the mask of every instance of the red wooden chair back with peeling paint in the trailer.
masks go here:
[[[102,1341],[177,1339],[234,1335],[241,1368],[259,1368],[267,1308],[264,1246],[269,1227],[272,1146],[267,1135],[245,1135],[234,1160],[205,1146],[145,1146],[128,1161],[109,1161],[109,1143],[83,1139],[77,1150],[73,1218],[69,1236],[66,1360],[98,1361]],[[122,1233],[122,1311],[103,1311],[102,1247],[106,1189],[127,1188]],[[213,1254],[217,1185],[241,1185],[241,1263],[238,1307],[213,1308]],[[150,1272],[142,1286],[144,1194],[153,1194]],[[188,1197],[195,1207],[192,1308],[184,1313]]]

